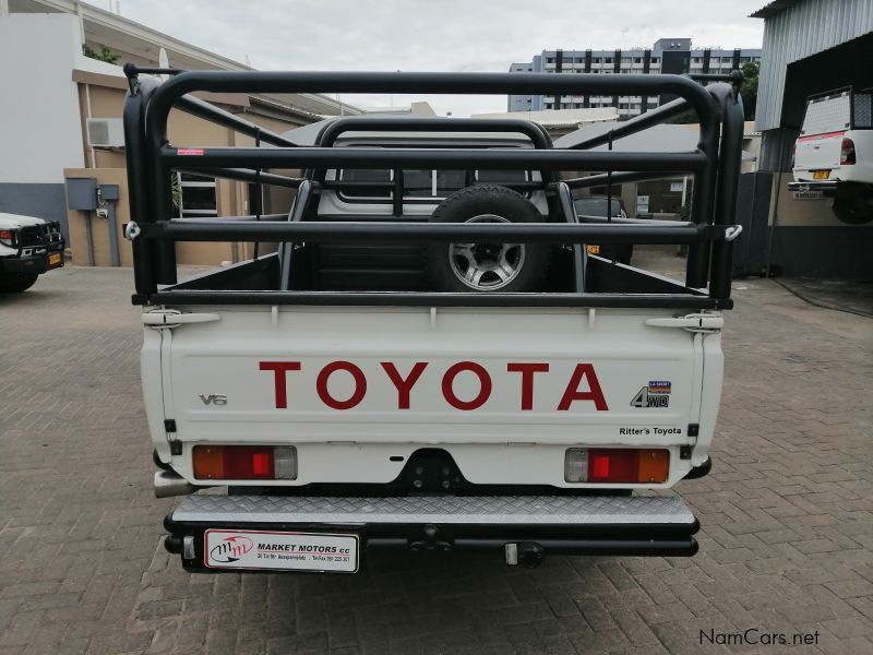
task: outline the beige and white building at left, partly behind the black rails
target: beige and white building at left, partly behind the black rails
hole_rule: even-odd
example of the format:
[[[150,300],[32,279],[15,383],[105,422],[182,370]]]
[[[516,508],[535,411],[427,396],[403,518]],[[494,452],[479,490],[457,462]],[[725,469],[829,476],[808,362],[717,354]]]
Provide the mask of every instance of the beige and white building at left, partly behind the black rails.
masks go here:
[[[83,53],[108,48],[119,58],[108,63]],[[59,221],[72,263],[130,265],[130,247],[120,237],[128,213],[127,171],[121,117],[127,78],[122,64],[191,70],[251,70],[248,66],[74,0],[0,2],[0,58],[28,61],[0,69],[0,211]],[[33,67],[39,67],[34,74]],[[362,110],[322,94],[194,94],[222,109],[276,133]],[[23,98],[27,100],[24,102]],[[254,139],[174,110],[170,142],[179,146],[254,146]],[[300,171],[283,171],[295,176]],[[109,218],[70,209],[69,180],[85,178],[117,186],[115,226],[118,250],[109,238]],[[222,217],[285,213],[294,191],[235,180],[181,174],[174,213],[181,217]],[[75,204],[73,204],[75,206]],[[259,252],[268,251],[261,245]],[[179,264],[219,264],[250,258],[252,243],[179,243]]]

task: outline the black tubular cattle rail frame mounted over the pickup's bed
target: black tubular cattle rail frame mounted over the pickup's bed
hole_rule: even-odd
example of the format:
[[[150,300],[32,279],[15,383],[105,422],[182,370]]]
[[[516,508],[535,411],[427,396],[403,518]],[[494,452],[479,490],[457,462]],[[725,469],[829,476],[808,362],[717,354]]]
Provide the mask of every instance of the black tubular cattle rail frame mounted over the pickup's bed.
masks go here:
[[[510,73],[319,73],[178,71],[127,64],[130,91],[124,104],[124,135],[132,222],[125,234],[133,242],[137,305],[244,303],[244,305],[384,305],[467,307],[663,307],[675,309],[728,309],[732,240],[743,127],[738,88],[742,75],[706,78],[702,86],[684,75],[510,74]],[[158,83],[140,74],[168,74]],[[550,95],[661,95],[675,100],[618,123],[606,134],[569,148],[554,148],[548,134],[530,121],[419,118],[391,121],[384,118],[339,118],[325,128],[316,146],[302,146],[287,138],[224,111],[189,95],[212,93],[436,93],[436,94],[541,94]],[[176,147],[167,139],[167,118],[180,109],[237,132],[253,136],[258,147]],[[613,140],[639,132],[692,109],[699,121],[699,142],[692,152],[613,152]],[[343,132],[373,130],[428,130],[451,132],[513,132],[530,139],[533,148],[409,148],[333,147]],[[261,147],[261,144],[270,147]],[[608,151],[591,151],[609,144]],[[540,170],[541,182],[507,184],[518,190],[543,189],[559,207],[560,222],[538,224],[372,221],[301,221],[310,201],[322,189],[355,183],[325,180],[325,171],[343,167],[455,170]],[[306,169],[291,178],[264,169]],[[174,219],[171,171],[191,171],[297,188],[286,216]],[[561,180],[559,170],[602,171],[588,178]],[[570,189],[619,184],[692,174],[694,192],[691,222],[655,222],[607,218],[579,223]],[[395,175],[400,178],[402,175]],[[396,187],[373,182],[370,186]],[[357,183],[361,186],[361,182]],[[368,184],[363,182],[363,184]],[[403,211],[402,194],[393,194],[394,216]],[[354,217],[351,217],[354,218]],[[301,242],[553,242],[572,243],[575,258],[573,293],[419,293],[318,291],[288,288],[291,243]],[[176,284],[176,241],[279,241],[279,289],[158,288]],[[689,246],[685,286],[646,287],[647,293],[590,293],[584,289],[585,253],[581,245],[684,243]],[[268,255],[273,257],[273,255]],[[258,261],[258,260],[255,260]],[[615,271],[627,269],[612,264]],[[653,276],[653,279],[657,276]]]

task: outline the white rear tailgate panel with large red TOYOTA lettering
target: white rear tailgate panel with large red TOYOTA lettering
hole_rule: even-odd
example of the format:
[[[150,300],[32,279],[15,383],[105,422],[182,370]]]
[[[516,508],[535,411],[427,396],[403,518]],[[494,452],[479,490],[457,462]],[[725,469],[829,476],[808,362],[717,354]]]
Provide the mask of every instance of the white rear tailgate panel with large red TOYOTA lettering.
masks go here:
[[[160,330],[172,464],[192,481],[196,443],[295,444],[299,476],[282,484],[385,483],[392,457],[438,445],[470,481],[557,486],[567,445],[642,445],[672,449],[670,486],[720,392],[702,394],[704,353],[720,380],[719,334],[646,325],[670,310],[193,311],[217,320]]]

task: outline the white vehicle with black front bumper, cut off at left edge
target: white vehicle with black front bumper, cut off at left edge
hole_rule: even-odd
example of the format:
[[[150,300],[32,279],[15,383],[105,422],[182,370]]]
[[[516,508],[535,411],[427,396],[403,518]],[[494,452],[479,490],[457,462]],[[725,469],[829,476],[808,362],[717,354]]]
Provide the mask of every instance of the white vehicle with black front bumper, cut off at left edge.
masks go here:
[[[0,294],[25,291],[41,273],[63,266],[65,246],[57,221],[0,212]]]

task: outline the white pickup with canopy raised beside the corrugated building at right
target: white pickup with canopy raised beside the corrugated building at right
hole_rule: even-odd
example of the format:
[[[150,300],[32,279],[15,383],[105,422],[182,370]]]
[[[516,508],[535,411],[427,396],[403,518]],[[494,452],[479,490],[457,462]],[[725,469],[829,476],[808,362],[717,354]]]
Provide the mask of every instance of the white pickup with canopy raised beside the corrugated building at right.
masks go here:
[[[873,92],[840,88],[811,96],[791,169],[788,188],[833,198],[844,223],[873,219]]]

